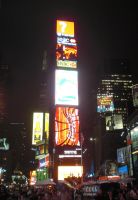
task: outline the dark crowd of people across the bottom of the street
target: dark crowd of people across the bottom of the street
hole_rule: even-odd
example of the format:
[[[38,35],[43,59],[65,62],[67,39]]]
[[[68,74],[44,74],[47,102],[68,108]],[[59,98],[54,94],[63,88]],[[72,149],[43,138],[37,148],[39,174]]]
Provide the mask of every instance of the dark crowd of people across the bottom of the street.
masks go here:
[[[67,185],[47,185],[43,187],[5,187],[0,186],[0,200],[138,200],[138,186],[120,184],[119,188],[101,189],[93,197],[79,197],[76,190]]]

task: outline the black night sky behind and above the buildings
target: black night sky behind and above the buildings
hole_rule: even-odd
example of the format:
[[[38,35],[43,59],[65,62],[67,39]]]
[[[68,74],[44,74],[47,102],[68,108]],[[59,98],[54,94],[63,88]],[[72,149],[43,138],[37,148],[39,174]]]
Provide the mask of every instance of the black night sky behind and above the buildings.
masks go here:
[[[87,2],[87,4],[86,4]],[[53,56],[55,20],[74,20],[82,110],[86,119],[104,59],[127,58],[138,83],[136,4],[117,1],[1,0],[0,64],[11,71],[11,120],[30,119],[44,50]],[[86,110],[86,111],[85,111]],[[91,115],[90,120],[93,116]],[[85,118],[85,116],[84,116]]]

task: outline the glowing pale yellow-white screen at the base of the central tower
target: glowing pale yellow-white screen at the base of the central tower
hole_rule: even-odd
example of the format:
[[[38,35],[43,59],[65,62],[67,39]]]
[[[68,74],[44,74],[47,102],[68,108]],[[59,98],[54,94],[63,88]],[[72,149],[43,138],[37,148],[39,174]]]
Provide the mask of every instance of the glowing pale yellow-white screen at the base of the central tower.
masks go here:
[[[82,174],[82,166],[58,166],[58,180],[64,180],[69,176],[81,177]]]

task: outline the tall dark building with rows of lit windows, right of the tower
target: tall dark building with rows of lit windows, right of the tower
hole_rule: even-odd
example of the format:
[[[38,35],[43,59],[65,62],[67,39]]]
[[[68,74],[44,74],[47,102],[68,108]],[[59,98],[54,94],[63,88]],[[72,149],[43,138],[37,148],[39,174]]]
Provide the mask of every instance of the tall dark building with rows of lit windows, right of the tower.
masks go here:
[[[106,62],[97,89],[97,112],[103,127],[100,136],[101,162],[116,160],[117,148],[126,145],[127,120],[133,109],[133,83],[128,68],[126,60]]]

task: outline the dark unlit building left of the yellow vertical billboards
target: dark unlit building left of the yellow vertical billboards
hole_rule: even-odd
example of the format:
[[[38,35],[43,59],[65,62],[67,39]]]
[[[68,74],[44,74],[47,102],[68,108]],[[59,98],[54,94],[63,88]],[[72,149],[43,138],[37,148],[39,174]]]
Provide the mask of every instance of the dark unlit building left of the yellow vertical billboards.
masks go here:
[[[27,176],[31,168],[31,145],[25,124],[21,122],[11,122],[9,123],[9,132],[12,135],[12,137],[9,138],[10,152],[12,154],[11,172],[13,173],[18,167],[18,170],[21,170],[23,174]]]

